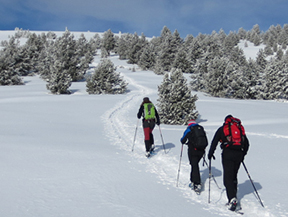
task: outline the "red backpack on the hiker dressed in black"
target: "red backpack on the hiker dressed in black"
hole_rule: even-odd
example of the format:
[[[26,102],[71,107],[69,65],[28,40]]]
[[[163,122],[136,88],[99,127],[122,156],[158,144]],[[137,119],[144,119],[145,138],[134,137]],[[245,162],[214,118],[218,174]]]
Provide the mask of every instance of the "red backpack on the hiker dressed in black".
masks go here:
[[[243,148],[243,136],[245,135],[244,127],[241,124],[240,119],[234,117],[228,117],[225,120],[223,126],[223,132],[226,137],[224,143],[225,148],[242,149]]]

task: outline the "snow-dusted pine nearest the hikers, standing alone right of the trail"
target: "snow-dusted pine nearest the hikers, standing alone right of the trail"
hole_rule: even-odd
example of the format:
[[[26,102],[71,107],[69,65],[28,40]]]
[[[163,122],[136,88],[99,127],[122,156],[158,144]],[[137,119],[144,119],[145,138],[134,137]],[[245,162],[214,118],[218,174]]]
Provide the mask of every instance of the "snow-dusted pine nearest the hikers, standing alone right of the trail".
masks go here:
[[[158,86],[157,100],[159,116],[164,124],[181,125],[198,117],[195,102],[197,95],[192,95],[187,80],[179,69],[166,73],[163,82]]]

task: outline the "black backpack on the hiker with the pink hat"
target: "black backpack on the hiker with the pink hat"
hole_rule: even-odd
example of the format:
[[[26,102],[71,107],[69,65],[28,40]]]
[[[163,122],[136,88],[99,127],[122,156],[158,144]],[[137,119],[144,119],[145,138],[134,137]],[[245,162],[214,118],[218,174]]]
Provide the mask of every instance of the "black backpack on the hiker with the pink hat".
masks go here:
[[[200,125],[191,126],[191,132],[193,133],[194,141],[193,147],[198,150],[205,150],[208,146],[208,139],[206,137],[205,130]]]

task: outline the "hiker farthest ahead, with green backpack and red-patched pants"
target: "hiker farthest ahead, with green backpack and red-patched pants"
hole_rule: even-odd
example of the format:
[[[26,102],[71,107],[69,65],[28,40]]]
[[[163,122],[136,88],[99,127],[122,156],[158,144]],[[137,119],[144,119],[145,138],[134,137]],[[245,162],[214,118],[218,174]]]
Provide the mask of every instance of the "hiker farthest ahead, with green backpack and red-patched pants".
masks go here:
[[[141,117],[143,118],[142,124],[144,130],[146,157],[149,157],[155,148],[152,131],[155,127],[155,123],[160,125],[160,119],[157,109],[148,97],[143,98],[143,102],[140,105],[137,117],[138,119]]]

